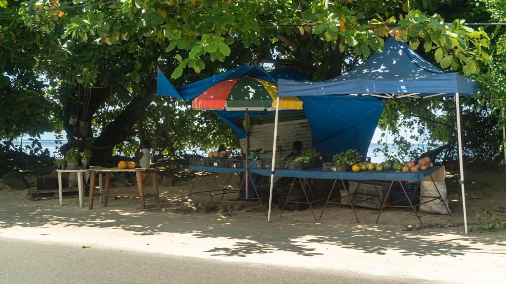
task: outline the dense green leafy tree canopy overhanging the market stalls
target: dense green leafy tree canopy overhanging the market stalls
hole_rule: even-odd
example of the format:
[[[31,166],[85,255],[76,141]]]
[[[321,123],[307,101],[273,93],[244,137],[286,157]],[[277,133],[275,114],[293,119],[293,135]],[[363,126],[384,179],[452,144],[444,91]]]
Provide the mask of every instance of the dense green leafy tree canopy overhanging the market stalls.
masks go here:
[[[212,113],[153,96],[156,67],[171,74],[176,86],[251,61],[275,62],[275,68],[321,80],[382,52],[389,35],[443,70],[482,78],[484,89],[493,89],[500,82],[494,76],[504,74],[496,59],[504,58],[506,40],[500,29],[487,34],[465,25],[463,16],[503,21],[501,5],[495,0],[1,0],[0,87],[6,100],[0,104],[10,120],[0,122],[0,138],[50,128],[70,131],[66,121],[77,115],[87,128],[82,132],[95,137],[88,145],[105,156],[113,149],[131,151],[136,135],[158,139],[157,147],[171,157],[188,148],[186,133],[193,133],[197,148],[220,141],[236,145]],[[471,16],[459,14],[466,9],[474,11]],[[482,116],[497,109],[486,100],[465,103],[483,109]],[[19,104],[36,108],[37,118],[7,132],[25,116]],[[454,143],[452,112],[451,102],[441,99],[389,102],[380,127],[402,144],[406,137],[396,130],[419,122],[419,133],[429,130],[435,147]]]

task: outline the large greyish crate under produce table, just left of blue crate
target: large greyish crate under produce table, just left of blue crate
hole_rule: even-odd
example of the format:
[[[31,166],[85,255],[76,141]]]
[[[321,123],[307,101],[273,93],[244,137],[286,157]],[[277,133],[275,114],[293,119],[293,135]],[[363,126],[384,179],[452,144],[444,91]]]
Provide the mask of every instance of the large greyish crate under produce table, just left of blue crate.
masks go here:
[[[389,187],[389,182],[372,180],[350,181],[348,191],[350,194],[353,194],[350,197],[353,205],[381,209]],[[376,194],[379,195],[379,199],[376,197]]]

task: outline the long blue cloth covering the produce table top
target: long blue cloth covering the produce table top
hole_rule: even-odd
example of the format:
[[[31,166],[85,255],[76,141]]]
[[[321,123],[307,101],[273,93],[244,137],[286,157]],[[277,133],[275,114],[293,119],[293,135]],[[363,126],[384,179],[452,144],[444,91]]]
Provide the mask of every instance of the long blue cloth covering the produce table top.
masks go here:
[[[299,178],[319,178],[319,179],[352,179],[352,180],[422,180],[426,176],[433,174],[439,170],[441,166],[435,166],[425,171],[419,172],[396,172],[389,171],[361,171],[361,172],[324,172],[321,168],[308,170],[276,170],[274,176],[278,177],[299,177]],[[208,172],[244,172],[245,169],[227,169],[217,167],[190,166],[192,171],[208,171]],[[229,171],[230,170],[230,171]],[[249,169],[252,173],[263,176],[270,176],[271,170]]]

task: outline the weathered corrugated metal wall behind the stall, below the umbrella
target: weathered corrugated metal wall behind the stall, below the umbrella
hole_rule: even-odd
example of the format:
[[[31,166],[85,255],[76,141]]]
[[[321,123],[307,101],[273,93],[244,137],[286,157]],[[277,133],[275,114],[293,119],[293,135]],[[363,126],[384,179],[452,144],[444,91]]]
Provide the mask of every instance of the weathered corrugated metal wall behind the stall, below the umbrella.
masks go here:
[[[252,125],[249,132],[249,149],[262,148],[262,158],[272,157],[272,139],[274,136],[274,123]],[[283,157],[291,152],[294,141],[300,140],[303,151],[312,147],[311,128],[307,119],[278,122],[278,137],[276,157]],[[246,151],[246,138],[240,139],[241,151]]]

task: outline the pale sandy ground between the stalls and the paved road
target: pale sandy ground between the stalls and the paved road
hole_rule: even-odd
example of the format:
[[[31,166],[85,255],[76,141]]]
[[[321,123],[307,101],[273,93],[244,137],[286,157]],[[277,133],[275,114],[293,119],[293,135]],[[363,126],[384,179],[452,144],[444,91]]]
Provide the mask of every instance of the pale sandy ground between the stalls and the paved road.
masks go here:
[[[206,177],[213,188],[224,185],[226,178]],[[476,222],[474,216],[483,209],[506,207],[505,174],[470,173],[467,180],[469,222]],[[454,186],[451,180],[447,183]],[[231,184],[237,187],[237,177]],[[184,205],[190,186],[189,179],[178,180],[174,187],[160,186],[163,207]],[[224,200],[234,197],[229,194]],[[458,196],[450,200],[451,216],[422,213],[423,222],[462,222]],[[188,206],[198,201],[205,203],[208,197],[193,196]],[[418,224],[407,210],[389,210],[375,224],[378,212],[365,208],[357,208],[360,223],[349,207],[330,205],[320,222],[314,221],[309,210],[285,211],[280,217],[280,210],[273,208],[273,222],[267,223],[263,212],[243,212],[247,210],[232,215],[141,211],[135,198],[110,199],[108,207],[96,199],[93,210],[79,208],[77,198],[63,202],[60,207],[58,200],[27,200],[26,191],[0,191],[0,238],[462,283],[506,274],[505,231],[465,235],[462,226],[404,231],[407,225]],[[317,205],[317,217],[321,210]],[[506,214],[496,215],[506,220]]]

